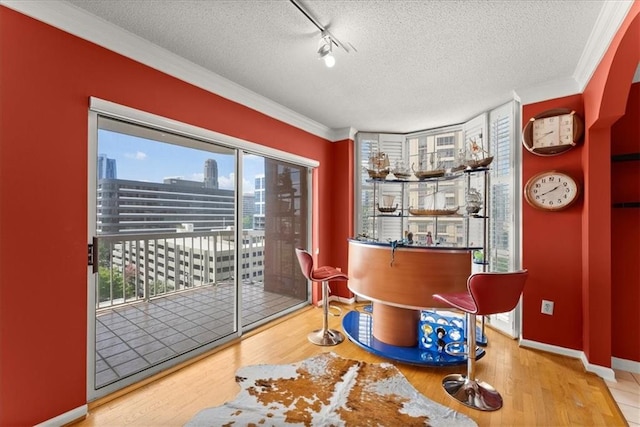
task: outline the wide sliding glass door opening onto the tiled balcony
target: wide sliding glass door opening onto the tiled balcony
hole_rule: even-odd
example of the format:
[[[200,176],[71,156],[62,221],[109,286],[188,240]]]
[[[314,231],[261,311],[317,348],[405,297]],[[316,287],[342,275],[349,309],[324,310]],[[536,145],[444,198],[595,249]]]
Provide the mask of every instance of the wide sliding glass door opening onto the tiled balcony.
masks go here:
[[[308,304],[307,166],[90,116],[90,400]]]

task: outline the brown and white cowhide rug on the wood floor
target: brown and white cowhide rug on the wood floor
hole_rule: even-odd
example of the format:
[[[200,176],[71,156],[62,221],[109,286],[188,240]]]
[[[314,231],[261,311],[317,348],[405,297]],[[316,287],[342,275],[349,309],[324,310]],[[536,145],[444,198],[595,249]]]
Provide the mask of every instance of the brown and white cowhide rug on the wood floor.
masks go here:
[[[243,367],[236,381],[234,401],[200,411],[187,426],[476,426],[421,395],[389,363],[322,353],[291,365]]]

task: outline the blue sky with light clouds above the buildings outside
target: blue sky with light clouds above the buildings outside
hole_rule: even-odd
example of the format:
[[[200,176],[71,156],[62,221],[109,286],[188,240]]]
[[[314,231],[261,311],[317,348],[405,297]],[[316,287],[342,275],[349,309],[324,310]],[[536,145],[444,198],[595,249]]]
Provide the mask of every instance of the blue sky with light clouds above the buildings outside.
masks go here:
[[[98,154],[116,160],[118,179],[149,182],[163,182],[165,178],[175,177],[202,181],[205,160],[215,159],[218,163],[219,187],[228,190],[234,188],[232,154],[186,148],[104,129],[98,130]],[[255,176],[264,174],[264,159],[245,155],[243,168],[243,193],[252,193]]]

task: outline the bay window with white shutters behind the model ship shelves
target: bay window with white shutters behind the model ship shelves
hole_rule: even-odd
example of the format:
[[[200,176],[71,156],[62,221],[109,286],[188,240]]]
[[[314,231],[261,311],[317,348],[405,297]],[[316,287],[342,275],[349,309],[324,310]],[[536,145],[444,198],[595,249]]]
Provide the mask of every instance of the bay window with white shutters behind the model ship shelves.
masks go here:
[[[437,241],[450,245],[485,247],[486,259],[491,271],[506,271],[518,268],[519,228],[518,218],[518,171],[516,133],[517,108],[510,102],[461,125],[432,129],[406,135],[358,133],[356,136],[357,166],[360,180],[355,189],[356,224],[358,236],[378,241],[400,240],[405,231],[413,233],[418,244],[426,241],[427,233],[437,236]],[[404,166],[415,170],[442,168],[450,170],[469,157],[469,147],[479,144],[487,155],[493,156],[490,165],[489,194],[486,214],[489,230],[482,221],[470,221],[468,225],[460,217],[417,217],[405,212],[402,221],[374,221],[374,185],[367,173],[368,159],[375,153],[384,152],[390,160],[390,168]],[[514,149],[515,147],[515,149]],[[415,178],[413,178],[415,179]],[[484,188],[483,177],[470,178],[471,189]],[[439,182],[437,192],[446,206],[460,206],[463,214],[467,194],[453,182]],[[389,188],[387,188],[389,187]],[[433,198],[433,189],[423,186],[416,190],[407,185],[404,193],[387,185],[384,194],[402,200],[405,207],[422,207]],[[462,215],[460,215],[462,216]],[[468,229],[467,229],[468,227]]]

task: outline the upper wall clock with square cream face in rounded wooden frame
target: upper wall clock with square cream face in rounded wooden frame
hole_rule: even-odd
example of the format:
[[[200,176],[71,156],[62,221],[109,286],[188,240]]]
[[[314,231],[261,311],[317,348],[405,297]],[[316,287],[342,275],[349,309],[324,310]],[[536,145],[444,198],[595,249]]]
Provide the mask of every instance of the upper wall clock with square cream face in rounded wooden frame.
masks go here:
[[[522,130],[522,144],[539,156],[553,156],[575,147],[584,131],[584,123],[567,108],[547,110],[532,117]]]

